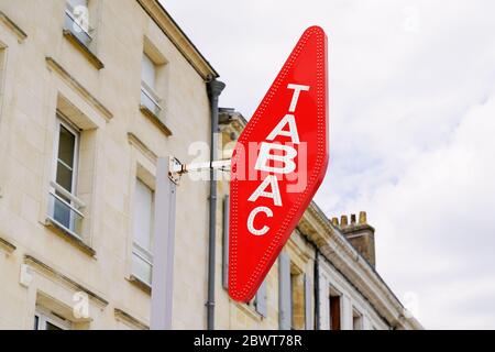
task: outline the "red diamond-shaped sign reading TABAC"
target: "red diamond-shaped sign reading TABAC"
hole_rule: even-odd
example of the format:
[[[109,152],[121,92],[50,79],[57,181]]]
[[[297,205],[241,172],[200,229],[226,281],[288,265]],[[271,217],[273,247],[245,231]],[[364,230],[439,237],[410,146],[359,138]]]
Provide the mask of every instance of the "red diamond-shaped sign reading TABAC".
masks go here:
[[[249,301],[302,217],[328,165],[327,36],[302,34],[232,156],[229,294]]]

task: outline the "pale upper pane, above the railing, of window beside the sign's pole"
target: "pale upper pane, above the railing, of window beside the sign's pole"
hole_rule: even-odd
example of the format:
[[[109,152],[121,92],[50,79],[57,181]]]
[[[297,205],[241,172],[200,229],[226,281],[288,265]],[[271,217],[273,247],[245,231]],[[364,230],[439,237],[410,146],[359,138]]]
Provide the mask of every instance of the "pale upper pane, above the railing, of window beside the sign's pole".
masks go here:
[[[134,242],[152,252],[153,245],[153,191],[136,180],[134,195]]]

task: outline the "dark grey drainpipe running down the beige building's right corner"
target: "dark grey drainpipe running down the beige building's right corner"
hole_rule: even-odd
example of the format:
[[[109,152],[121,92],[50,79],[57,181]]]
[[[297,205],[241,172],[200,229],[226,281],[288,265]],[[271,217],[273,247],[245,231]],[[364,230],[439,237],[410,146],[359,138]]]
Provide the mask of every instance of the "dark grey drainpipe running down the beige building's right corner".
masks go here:
[[[210,140],[210,163],[218,160],[218,98],[226,88],[226,84],[212,79],[208,81],[208,95],[211,108],[211,140]],[[215,257],[217,237],[217,180],[215,169],[210,167],[210,222],[208,233],[208,301],[207,306],[207,328],[215,330]]]

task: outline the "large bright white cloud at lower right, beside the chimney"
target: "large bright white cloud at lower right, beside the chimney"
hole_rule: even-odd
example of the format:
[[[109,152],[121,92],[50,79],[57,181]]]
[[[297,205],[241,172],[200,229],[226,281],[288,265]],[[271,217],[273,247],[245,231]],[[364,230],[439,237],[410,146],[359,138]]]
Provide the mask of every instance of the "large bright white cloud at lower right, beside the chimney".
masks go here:
[[[495,96],[444,143],[411,157],[397,182],[345,204],[370,210],[378,270],[397,292],[417,293],[427,327],[495,327],[494,118]]]

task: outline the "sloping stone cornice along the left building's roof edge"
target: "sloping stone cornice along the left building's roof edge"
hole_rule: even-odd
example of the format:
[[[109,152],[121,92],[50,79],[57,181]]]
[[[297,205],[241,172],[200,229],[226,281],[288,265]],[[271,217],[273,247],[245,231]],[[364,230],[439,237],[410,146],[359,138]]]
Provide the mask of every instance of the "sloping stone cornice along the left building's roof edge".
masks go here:
[[[201,55],[198,48],[180,30],[174,19],[160,4],[157,0],[136,0],[144,11],[155,21],[163,33],[170,40],[170,42],[183,54],[187,62],[196,69],[196,72],[208,80],[219,77],[215,68]]]

